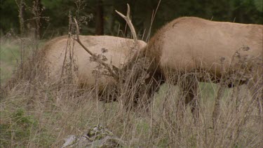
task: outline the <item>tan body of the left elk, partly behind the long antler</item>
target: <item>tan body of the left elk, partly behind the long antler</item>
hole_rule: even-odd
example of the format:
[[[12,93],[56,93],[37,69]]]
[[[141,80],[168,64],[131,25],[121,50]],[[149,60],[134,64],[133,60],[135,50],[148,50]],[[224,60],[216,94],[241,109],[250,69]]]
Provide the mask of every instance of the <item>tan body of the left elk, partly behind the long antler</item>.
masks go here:
[[[128,58],[133,57],[135,50],[144,48],[144,41],[135,43],[132,39],[124,39],[114,36],[79,36],[83,45],[88,48],[93,54],[104,56],[104,63],[119,68],[127,62]],[[102,51],[106,51],[102,53]],[[112,86],[116,83],[116,79],[112,76],[101,74],[96,82],[94,70],[100,67],[99,62],[90,60],[92,55],[87,53],[83,47],[74,42],[68,36],[57,37],[43,47],[43,61],[45,64],[46,73],[52,81],[68,78],[68,74],[63,74],[69,69],[69,62],[72,62],[73,83],[85,88],[93,88],[96,83],[100,90],[104,90],[107,86]],[[98,67],[99,66],[99,67]],[[100,68],[99,68],[100,69]],[[103,67],[100,69],[104,71]]]

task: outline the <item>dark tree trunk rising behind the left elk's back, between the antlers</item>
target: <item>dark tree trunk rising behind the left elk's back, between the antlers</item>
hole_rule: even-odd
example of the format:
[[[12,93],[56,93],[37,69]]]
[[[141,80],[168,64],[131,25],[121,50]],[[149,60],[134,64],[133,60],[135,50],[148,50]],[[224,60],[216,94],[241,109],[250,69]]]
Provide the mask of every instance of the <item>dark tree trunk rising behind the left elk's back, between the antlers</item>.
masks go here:
[[[97,0],[96,4],[96,18],[95,18],[95,34],[102,35],[104,34],[104,26],[103,26],[103,6],[102,0]]]

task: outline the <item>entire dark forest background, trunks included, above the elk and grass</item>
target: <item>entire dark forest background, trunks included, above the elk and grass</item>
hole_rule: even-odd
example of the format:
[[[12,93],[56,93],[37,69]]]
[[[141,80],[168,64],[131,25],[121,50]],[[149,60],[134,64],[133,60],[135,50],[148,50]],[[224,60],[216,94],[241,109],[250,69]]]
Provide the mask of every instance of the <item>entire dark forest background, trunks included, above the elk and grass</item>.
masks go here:
[[[159,0],[1,0],[1,36],[8,33],[29,35],[32,30],[40,39],[67,34],[69,12],[82,22],[81,34],[128,36],[126,22],[115,13],[117,10],[126,15],[126,4],[130,4],[133,25],[140,39],[144,32],[148,34],[151,30],[153,34],[170,20],[182,16],[253,24],[263,22],[262,0],[162,0],[160,4]]]

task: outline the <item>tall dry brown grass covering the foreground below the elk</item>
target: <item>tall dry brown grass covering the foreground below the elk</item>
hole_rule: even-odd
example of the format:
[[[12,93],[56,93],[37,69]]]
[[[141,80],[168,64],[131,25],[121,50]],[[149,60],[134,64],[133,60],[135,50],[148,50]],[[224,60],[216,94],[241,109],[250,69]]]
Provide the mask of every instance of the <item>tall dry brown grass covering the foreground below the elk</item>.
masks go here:
[[[31,48],[30,53],[35,56],[38,51]],[[189,107],[180,119],[177,103],[182,94],[177,86],[161,86],[148,112],[143,107],[127,111],[124,105],[133,103],[127,100],[136,95],[142,81],[133,81],[133,88],[119,84],[119,102],[103,103],[94,90],[79,93],[72,83],[46,81],[38,58],[24,64],[1,92],[1,147],[61,147],[67,135],[81,135],[97,124],[128,147],[263,147],[262,114],[258,115],[257,102],[246,86],[222,91],[213,128],[214,98],[220,88],[213,83],[199,83],[200,119],[195,123]]]

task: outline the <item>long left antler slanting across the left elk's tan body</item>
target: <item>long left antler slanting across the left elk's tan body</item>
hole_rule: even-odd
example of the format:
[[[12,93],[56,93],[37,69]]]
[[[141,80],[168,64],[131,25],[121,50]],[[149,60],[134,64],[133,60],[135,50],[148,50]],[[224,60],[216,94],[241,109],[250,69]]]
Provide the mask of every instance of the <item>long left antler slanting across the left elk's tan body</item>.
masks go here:
[[[87,51],[91,56],[93,56],[93,58],[96,57],[96,55],[94,53],[92,53],[90,50],[88,50],[88,48],[86,48],[86,46],[83,45],[83,43],[81,42],[81,40],[79,39],[79,25],[78,22],[76,22],[76,19],[74,18],[74,22],[76,25],[76,39],[74,39],[76,42],[78,42],[84,49],[85,51]],[[99,62],[101,65],[103,65],[104,67],[106,67],[109,71],[110,74],[112,74],[112,76],[114,77],[114,79],[116,79],[117,81],[119,80],[119,76],[117,75],[117,72],[114,72],[114,69],[116,71],[119,70],[118,67],[115,67],[114,65],[112,65],[112,67],[114,67],[114,69],[112,69],[106,62],[103,62],[100,58],[95,58],[96,62]]]

